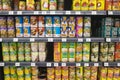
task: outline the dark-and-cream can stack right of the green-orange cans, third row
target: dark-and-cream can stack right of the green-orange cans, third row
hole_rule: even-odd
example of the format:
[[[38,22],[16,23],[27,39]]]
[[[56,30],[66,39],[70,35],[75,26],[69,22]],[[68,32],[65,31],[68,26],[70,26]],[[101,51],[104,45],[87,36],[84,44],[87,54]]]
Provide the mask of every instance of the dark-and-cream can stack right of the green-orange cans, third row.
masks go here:
[[[91,61],[98,61],[99,43],[91,43]]]

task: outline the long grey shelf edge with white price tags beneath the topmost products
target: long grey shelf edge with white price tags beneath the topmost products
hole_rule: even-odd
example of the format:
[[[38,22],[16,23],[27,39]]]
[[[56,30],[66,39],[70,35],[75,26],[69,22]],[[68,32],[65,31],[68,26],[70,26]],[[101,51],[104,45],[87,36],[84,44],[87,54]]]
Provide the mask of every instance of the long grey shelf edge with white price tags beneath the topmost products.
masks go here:
[[[0,11],[0,15],[106,15],[106,11]]]

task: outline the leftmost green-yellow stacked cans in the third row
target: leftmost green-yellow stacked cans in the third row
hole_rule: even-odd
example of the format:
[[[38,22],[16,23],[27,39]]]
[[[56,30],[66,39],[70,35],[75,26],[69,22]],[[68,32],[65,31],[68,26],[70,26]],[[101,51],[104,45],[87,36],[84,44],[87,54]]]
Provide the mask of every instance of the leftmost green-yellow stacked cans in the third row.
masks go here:
[[[9,44],[8,43],[2,43],[2,55],[3,55],[4,62],[10,61]]]

